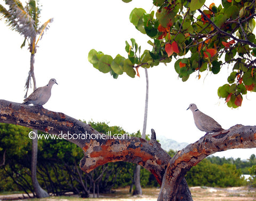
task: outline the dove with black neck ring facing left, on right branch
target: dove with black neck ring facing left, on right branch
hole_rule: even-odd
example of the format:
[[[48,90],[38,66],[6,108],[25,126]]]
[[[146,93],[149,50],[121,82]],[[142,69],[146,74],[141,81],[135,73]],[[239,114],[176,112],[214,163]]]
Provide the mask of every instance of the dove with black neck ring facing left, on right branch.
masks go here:
[[[216,122],[212,117],[209,117],[208,115],[205,115],[203,112],[198,110],[196,104],[190,104],[188,109],[193,112],[196,127],[200,131],[205,131],[206,134],[208,134],[224,130],[221,125]]]

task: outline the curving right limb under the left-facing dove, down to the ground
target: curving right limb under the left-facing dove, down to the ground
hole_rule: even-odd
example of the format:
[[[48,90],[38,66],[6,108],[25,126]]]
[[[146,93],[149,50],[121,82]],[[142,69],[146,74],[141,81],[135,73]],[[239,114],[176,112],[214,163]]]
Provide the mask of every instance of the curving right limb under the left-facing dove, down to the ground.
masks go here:
[[[225,134],[203,136],[178,151],[167,166],[158,200],[177,200],[176,184],[183,179],[191,167],[217,151],[236,148],[256,148],[256,126],[235,125]]]

